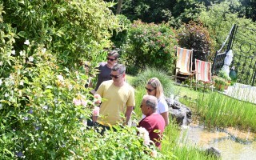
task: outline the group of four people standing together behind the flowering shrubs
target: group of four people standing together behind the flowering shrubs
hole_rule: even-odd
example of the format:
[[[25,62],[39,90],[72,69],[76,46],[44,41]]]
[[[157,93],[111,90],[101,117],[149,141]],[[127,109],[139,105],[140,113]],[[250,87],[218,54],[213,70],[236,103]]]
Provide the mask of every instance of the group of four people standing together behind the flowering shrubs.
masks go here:
[[[106,100],[100,105],[101,116],[94,126],[100,128],[101,134],[110,130],[110,126],[127,125],[135,106],[134,88],[126,82],[126,67],[117,63],[118,58],[118,52],[111,51],[107,54],[107,62],[98,66],[98,82],[93,94]],[[168,106],[158,78],[150,78],[145,88],[147,94],[142,98],[142,120],[138,122],[138,127],[144,127],[149,132],[150,140],[160,148],[162,133],[169,124]]]

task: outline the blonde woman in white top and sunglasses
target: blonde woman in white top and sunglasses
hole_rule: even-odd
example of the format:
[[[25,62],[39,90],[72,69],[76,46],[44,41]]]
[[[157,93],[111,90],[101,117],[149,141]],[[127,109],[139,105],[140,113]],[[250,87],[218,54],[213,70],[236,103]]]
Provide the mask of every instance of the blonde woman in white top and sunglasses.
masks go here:
[[[166,122],[166,126],[169,124],[169,112],[168,112],[168,105],[166,103],[165,96],[162,90],[162,84],[158,78],[150,78],[150,80],[146,83],[146,92],[149,95],[153,95],[154,97],[158,98],[158,109],[156,112],[162,115]],[[146,116],[143,114],[142,118]]]

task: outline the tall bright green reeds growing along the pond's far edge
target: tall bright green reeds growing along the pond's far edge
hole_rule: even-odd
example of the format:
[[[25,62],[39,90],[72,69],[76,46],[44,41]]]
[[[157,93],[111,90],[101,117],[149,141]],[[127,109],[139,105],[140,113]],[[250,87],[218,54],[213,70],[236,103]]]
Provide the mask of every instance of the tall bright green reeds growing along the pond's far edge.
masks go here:
[[[238,126],[256,131],[256,105],[230,98],[224,94],[198,94],[197,113],[206,126]]]

